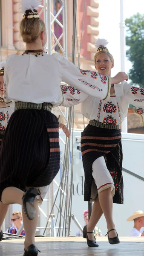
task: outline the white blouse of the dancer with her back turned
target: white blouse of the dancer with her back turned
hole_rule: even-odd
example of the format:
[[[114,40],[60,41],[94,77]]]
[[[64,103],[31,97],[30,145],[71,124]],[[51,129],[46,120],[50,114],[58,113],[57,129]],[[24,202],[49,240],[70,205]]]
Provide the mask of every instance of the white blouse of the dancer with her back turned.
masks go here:
[[[69,86],[75,86],[75,99],[66,97],[64,102],[76,104],[86,99],[87,95],[99,99],[109,99],[110,78],[96,72],[84,71],[77,68],[58,53],[52,56],[9,55],[4,72],[4,99],[22,102],[49,102],[53,107],[61,105],[63,93],[60,82],[65,81]],[[67,87],[70,90],[70,87]],[[81,99],[79,97],[80,91]],[[63,104],[64,104],[63,102]]]

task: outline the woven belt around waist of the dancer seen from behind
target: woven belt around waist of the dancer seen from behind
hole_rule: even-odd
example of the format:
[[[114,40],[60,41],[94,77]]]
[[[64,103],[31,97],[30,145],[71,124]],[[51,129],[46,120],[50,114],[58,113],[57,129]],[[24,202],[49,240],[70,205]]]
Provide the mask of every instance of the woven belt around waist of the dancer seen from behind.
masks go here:
[[[37,109],[37,110],[40,110],[40,109],[44,109],[44,110],[47,110],[47,111],[52,111],[52,104],[51,103],[39,103],[39,104],[36,104],[36,103],[32,103],[32,102],[14,102],[15,106],[14,106],[14,110],[18,110],[18,109]]]

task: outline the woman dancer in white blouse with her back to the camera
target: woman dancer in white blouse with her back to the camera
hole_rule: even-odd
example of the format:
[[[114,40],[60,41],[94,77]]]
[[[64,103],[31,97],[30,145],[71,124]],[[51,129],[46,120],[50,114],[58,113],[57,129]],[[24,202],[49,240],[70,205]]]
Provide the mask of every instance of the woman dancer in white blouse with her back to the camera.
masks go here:
[[[22,204],[23,256],[38,254],[35,246],[38,201],[46,194],[60,166],[59,122],[51,113],[52,107],[69,101],[69,98],[63,99],[60,81],[81,90],[84,100],[87,94],[108,99],[110,90],[112,92],[109,83],[127,79],[125,73],[118,73],[112,79],[108,76],[101,79],[95,73],[98,79],[94,79],[91,71],[86,71],[84,77],[81,70],[61,55],[43,52],[46,27],[34,9],[39,4],[39,0],[22,0],[24,17],[20,33],[26,42],[26,51],[7,58],[4,74],[5,101],[12,99],[15,111],[9,119],[0,153],[0,201]],[[106,82],[103,84],[103,81]],[[0,219],[4,219],[4,215],[0,210]],[[0,236],[3,236],[1,227]]]

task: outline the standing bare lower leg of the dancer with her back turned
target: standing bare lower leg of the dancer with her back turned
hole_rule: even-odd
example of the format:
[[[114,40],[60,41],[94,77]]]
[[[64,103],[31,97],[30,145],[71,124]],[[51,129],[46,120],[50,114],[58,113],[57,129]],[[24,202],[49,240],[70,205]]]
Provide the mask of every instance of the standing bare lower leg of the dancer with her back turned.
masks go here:
[[[35,230],[37,227],[37,222],[38,222],[38,203],[37,203],[37,199],[35,199],[35,204],[34,204],[35,210],[36,210],[36,215],[35,218],[33,220],[29,220],[26,217],[26,214],[24,213],[23,209],[22,209],[22,213],[23,213],[23,226],[25,229],[25,242],[24,242],[24,247],[25,249],[27,249],[27,247],[30,244],[35,244]]]

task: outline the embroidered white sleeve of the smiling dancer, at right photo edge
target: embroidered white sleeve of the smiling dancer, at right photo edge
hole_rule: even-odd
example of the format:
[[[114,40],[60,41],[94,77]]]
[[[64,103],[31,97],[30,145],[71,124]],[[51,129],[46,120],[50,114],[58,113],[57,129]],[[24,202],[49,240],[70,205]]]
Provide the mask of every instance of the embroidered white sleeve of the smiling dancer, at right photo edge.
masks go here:
[[[144,108],[144,88],[134,87],[126,81],[115,84],[115,96],[123,96],[125,101],[135,107]]]

